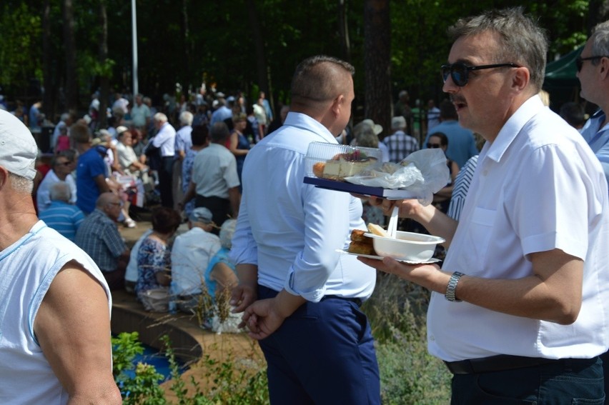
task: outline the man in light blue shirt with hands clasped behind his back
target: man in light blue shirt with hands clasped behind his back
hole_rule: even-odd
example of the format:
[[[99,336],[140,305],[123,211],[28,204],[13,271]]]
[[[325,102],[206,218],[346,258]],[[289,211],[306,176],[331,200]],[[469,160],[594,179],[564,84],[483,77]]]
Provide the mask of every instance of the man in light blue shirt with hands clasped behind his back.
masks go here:
[[[350,119],[352,74],[327,56],[299,64],[284,125],[245,159],[232,304],[259,339],[272,404],[380,404],[374,343],[359,307],[376,274],[337,253],[352,229],[365,229],[362,203],[303,183],[309,144],[337,144]]]

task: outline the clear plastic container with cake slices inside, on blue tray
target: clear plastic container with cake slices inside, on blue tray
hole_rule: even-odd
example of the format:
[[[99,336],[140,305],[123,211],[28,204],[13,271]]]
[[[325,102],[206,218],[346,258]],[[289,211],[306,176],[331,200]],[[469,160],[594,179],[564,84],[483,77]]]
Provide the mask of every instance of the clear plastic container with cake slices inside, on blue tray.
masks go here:
[[[342,181],[381,161],[381,156],[376,148],[311,142],[305,157],[307,176]]]

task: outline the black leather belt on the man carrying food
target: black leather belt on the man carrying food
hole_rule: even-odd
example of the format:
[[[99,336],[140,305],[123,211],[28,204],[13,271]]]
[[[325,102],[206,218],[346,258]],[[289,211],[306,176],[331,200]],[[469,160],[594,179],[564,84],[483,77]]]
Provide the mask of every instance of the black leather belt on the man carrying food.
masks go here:
[[[543,359],[542,357],[498,356],[482,357],[461,361],[445,361],[444,363],[452,374],[480,374],[492,371],[505,371],[523,369],[525,367],[541,366],[543,364],[561,364],[569,361],[571,364],[590,364],[595,359]]]

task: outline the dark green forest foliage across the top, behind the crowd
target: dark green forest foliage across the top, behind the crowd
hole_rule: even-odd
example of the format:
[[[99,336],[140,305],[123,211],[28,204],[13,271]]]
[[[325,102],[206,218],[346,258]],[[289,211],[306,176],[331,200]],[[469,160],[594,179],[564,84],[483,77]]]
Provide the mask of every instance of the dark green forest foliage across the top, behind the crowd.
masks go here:
[[[345,1],[350,61],[356,67],[358,98],[365,94],[363,51],[365,0]],[[114,89],[132,85],[131,2],[105,0],[107,10],[109,60],[99,58],[99,1],[73,1],[78,78],[64,72],[64,32],[67,24],[61,2],[49,9],[49,74],[58,94],[60,86],[78,80],[81,94],[99,86],[100,76],[112,77]],[[566,54],[583,44],[591,16],[589,0],[542,0],[523,2],[525,10],[537,16],[550,35],[550,55]],[[457,2],[448,0],[390,0],[391,81],[393,96],[408,89],[412,99],[442,98],[438,66],[446,61],[450,41],[447,26],[456,19],[490,8],[513,6],[511,0]],[[29,79],[41,79],[42,10],[41,1],[5,0],[0,6],[0,83],[26,88]],[[285,3],[261,1],[182,1],[138,0],[137,43],[139,89],[150,96],[173,94],[176,82],[182,89],[196,89],[202,80],[217,83],[224,92],[237,89],[253,94],[268,76],[270,98],[289,89],[294,66],[312,54],[330,54],[349,59],[342,51],[339,2],[310,0]],[[257,21],[262,38],[262,54],[257,53],[254,35]],[[374,35],[369,34],[369,35]],[[266,72],[258,71],[264,57]],[[46,72],[46,70],[45,70]],[[88,102],[88,98],[85,98]],[[155,102],[157,99],[155,98]],[[358,102],[361,102],[358,101]],[[86,107],[86,106],[83,106]],[[49,112],[49,111],[45,111]]]

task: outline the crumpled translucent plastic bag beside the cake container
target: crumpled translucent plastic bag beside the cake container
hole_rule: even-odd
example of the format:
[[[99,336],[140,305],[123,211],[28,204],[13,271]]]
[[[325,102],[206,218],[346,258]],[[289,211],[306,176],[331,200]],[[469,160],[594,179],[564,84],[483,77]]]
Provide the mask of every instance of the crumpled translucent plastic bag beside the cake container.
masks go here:
[[[421,204],[429,205],[433,194],[450,181],[450,171],[442,149],[421,149],[400,163],[373,164],[345,180],[362,186],[412,191],[419,196]]]

